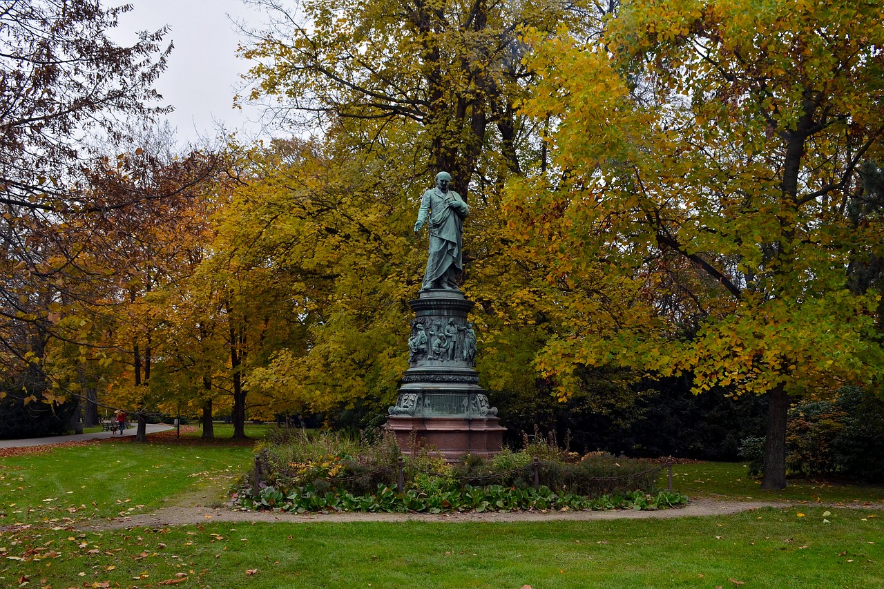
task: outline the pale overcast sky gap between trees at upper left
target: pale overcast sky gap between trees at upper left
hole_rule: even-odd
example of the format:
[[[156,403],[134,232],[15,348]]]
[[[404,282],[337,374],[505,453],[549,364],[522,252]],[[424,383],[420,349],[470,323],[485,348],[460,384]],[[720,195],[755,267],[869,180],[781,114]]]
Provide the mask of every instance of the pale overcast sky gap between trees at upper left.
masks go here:
[[[233,109],[240,74],[248,63],[236,56],[240,34],[232,20],[260,27],[263,15],[241,0],[110,0],[108,5],[132,4],[112,37],[131,43],[136,31],[155,31],[168,25],[166,39],[175,45],[169,66],[156,83],[164,103],[175,111],[168,115],[181,142],[214,137],[217,124],[244,139],[260,133],[258,107]],[[229,15],[229,16],[228,16]]]

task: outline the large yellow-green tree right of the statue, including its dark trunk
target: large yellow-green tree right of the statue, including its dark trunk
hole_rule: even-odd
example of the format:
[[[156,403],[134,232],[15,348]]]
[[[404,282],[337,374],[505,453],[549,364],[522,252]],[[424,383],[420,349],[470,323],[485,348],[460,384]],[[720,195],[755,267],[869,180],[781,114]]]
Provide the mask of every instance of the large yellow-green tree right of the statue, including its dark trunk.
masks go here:
[[[600,42],[538,44],[554,165],[514,184],[521,256],[571,329],[537,363],[693,375],[769,405],[763,487],[785,479],[789,399],[872,384],[880,295],[850,290],[880,219],[850,220],[880,158],[873,2],[634,0]]]

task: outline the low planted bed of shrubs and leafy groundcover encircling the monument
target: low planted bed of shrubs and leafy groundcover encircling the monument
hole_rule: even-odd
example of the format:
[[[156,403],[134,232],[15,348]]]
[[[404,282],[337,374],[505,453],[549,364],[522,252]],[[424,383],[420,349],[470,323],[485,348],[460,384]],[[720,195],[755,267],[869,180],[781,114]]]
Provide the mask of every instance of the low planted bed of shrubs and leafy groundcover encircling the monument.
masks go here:
[[[431,448],[403,455],[389,436],[280,430],[257,448],[255,471],[231,493],[241,509],[512,511],[667,509],[688,502],[654,488],[661,466],[603,453],[576,455],[546,440],[486,459],[448,463]],[[401,472],[401,487],[399,478]]]

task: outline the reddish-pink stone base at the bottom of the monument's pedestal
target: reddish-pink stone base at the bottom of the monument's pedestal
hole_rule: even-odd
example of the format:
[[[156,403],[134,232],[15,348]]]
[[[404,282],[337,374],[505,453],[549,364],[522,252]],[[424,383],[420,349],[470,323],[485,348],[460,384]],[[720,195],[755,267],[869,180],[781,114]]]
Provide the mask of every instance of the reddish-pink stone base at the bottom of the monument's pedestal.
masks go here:
[[[448,461],[464,454],[492,456],[503,447],[497,417],[390,417],[386,429],[396,435],[402,452],[414,454],[417,445],[435,447]]]

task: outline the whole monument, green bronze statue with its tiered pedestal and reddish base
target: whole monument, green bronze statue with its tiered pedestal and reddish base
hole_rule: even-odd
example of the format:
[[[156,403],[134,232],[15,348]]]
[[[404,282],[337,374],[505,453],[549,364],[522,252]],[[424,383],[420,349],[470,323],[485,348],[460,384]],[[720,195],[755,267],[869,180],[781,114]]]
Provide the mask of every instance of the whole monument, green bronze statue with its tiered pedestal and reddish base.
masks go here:
[[[415,233],[429,227],[430,252],[421,291],[408,302],[416,316],[408,338],[409,368],[386,425],[403,451],[409,452],[416,440],[437,447],[449,460],[468,452],[499,452],[507,431],[479,386],[476,331],[468,321],[476,303],[457,287],[469,206],[450,183],[448,172],[438,173],[436,187],[423,194],[415,222]]]

